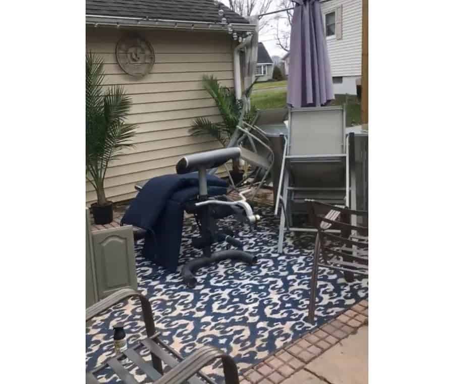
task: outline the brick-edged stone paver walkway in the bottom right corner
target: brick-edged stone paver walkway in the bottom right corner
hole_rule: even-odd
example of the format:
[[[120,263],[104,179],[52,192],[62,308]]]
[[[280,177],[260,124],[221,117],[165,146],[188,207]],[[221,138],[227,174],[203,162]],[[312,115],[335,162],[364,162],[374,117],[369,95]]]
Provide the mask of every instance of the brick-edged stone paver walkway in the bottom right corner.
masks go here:
[[[368,307],[362,300],[278,350],[241,376],[240,384],[367,384]]]

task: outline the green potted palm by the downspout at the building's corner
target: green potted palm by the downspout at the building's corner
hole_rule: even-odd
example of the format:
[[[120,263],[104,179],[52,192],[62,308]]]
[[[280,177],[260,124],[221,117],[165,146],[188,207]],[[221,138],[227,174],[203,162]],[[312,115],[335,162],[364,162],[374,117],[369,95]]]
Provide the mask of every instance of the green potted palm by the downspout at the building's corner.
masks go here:
[[[202,78],[203,86],[209,95],[214,99],[222,121],[213,123],[207,118],[197,118],[191,126],[190,132],[194,136],[209,134],[216,138],[224,147],[229,144],[232,135],[240,123],[243,113],[243,121],[251,124],[256,115],[256,109],[252,107],[250,111],[243,111],[243,100],[237,100],[235,91],[229,87],[219,84],[213,76],[204,75]],[[245,94],[249,94],[250,89]],[[230,173],[235,184],[243,179],[243,171],[240,170],[240,160],[232,160],[232,172]]]

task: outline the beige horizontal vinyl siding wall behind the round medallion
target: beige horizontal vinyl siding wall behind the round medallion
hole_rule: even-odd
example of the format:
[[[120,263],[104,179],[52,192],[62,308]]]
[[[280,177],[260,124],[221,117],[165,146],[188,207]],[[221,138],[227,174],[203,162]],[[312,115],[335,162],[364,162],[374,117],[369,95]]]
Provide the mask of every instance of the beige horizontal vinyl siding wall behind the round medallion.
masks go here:
[[[87,50],[104,60],[104,84],[122,85],[132,97],[129,123],[137,124],[134,148],[126,150],[106,172],[106,195],[112,201],[131,199],[134,185],[155,176],[175,173],[185,154],[215,149],[211,136],[193,137],[195,118],[221,121],[214,101],[203,89],[202,75],[213,74],[222,85],[233,87],[233,45],[229,35],[140,29],[154,48],[155,64],[149,75],[135,79],[118,66],[115,49],[121,29],[87,28]],[[91,184],[86,201],[96,200]]]

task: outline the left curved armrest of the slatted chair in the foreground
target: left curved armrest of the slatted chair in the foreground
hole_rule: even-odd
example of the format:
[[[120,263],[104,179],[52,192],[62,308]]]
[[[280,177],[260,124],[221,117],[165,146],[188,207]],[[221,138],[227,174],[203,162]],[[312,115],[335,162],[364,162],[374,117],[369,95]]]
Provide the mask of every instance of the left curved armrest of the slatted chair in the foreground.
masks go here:
[[[151,310],[151,304],[148,299],[131,288],[121,289],[111,295],[107,296],[105,299],[98,301],[97,303],[91,305],[85,310],[85,321],[92,319],[97,314],[105,311],[111,306],[119,303],[122,300],[125,300],[130,297],[138,297],[140,299],[140,305],[142,307],[142,316],[145,322],[145,327],[147,330],[147,336],[151,337],[156,333],[156,328],[154,326],[153,312]]]

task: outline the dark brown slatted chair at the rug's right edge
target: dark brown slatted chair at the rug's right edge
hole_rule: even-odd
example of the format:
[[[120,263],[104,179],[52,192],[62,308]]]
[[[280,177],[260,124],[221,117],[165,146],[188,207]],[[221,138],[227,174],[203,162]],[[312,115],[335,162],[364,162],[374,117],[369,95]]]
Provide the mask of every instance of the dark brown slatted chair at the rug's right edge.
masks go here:
[[[317,230],[309,302],[309,321],[314,323],[320,266],[344,271],[349,283],[355,275],[368,276],[368,213],[314,200],[306,200],[306,204],[310,222]],[[352,225],[353,218],[358,216],[362,218],[361,226]],[[328,232],[332,229],[340,234]]]

